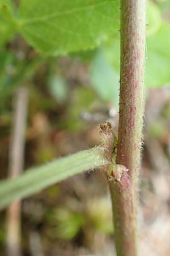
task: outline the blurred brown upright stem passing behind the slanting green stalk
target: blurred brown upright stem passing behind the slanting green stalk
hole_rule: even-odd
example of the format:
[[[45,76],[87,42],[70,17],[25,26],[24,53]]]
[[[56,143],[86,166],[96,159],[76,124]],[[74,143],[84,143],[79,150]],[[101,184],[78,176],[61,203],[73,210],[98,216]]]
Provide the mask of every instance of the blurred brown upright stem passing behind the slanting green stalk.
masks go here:
[[[14,119],[11,132],[8,176],[12,179],[23,170],[25,126],[28,107],[28,89],[21,87],[14,98]],[[7,210],[7,255],[20,256],[20,201],[15,200]]]

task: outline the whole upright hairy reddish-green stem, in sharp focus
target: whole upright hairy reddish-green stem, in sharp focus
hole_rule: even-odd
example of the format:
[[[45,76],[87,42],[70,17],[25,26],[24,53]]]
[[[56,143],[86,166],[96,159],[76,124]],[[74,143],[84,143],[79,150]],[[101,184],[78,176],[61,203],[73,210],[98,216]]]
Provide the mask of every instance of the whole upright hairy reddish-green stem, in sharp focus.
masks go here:
[[[128,168],[109,181],[118,256],[137,256],[138,177],[144,110],[146,0],[121,0],[121,79],[117,164]]]

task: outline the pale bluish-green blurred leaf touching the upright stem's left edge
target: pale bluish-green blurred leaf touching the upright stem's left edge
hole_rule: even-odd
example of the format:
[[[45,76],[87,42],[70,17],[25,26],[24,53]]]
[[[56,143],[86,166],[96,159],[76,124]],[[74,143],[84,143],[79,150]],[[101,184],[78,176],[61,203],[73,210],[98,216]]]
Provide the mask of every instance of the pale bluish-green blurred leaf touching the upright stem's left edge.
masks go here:
[[[118,106],[119,74],[109,64],[103,49],[99,49],[92,60],[90,76],[92,86],[101,99]]]

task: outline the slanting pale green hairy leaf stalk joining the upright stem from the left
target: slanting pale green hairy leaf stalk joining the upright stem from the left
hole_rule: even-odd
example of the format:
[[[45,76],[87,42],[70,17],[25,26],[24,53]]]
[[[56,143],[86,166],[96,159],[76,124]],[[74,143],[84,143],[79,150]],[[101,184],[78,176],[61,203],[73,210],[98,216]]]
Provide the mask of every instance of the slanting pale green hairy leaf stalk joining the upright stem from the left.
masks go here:
[[[105,151],[106,148],[101,146],[80,151],[44,166],[32,168],[15,179],[1,181],[0,209],[15,199],[30,196],[70,176],[109,164]]]

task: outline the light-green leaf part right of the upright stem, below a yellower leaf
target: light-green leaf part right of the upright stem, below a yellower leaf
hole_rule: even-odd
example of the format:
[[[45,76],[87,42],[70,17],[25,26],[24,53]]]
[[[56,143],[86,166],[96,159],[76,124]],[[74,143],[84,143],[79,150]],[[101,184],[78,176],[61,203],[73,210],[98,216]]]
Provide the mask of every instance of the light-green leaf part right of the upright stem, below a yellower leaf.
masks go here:
[[[148,36],[146,85],[163,86],[170,82],[170,24],[162,22],[159,30]]]

